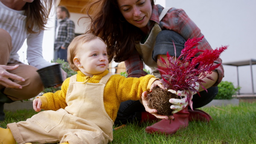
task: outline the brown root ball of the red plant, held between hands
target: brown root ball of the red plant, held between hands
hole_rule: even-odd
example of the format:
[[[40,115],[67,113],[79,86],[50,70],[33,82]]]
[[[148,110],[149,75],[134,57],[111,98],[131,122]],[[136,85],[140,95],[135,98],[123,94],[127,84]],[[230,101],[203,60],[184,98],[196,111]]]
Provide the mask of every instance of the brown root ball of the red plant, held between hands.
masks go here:
[[[159,86],[155,86],[152,89],[152,92],[148,94],[149,101],[148,101],[148,107],[151,109],[157,109],[157,113],[159,115],[173,115],[172,111],[174,109],[171,109],[171,103],[169,102],[170,98],[178,98],[179,96],[175,95],[172,92],[167,91],[167,89],[162,89]]]

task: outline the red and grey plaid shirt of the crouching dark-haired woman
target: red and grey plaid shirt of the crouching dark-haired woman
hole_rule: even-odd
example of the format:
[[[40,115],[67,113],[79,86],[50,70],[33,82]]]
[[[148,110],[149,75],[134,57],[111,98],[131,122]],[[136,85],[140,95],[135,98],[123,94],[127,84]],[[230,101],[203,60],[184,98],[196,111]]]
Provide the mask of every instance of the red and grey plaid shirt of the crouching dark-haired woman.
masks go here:
[[[171,8],[166,13],[161,21],[159,21],[159,16],[164,8],[160,5],[154,5],[152,10],[151,18],[148,22],[148,29],[151,31],[154,27],[154,23],[158,23],[161,29],[169,29],[177,32],[186,40],[193,37],[201,37],[203,34],[201,30],[195,25],[195,23],[187,16],[183,9]],[[135,48],[134,48],[135,49]],[[198,49],[212,49],[205,37],[198,45]],[[149,57],[152,57],[149,55]],[[215,63],[221,63],[221,58],[218,58]],[[147,75],[143,71],[143,60],[140,58],[139,53],[135,50],[134,54],[131,55],[128,60],[125,60],[125,66],[128,73],[128,77],[141,77]],[[224,77],[223,66],[220,65],[217,69],[218,80],[213,86],[217,86],[222,78]]]

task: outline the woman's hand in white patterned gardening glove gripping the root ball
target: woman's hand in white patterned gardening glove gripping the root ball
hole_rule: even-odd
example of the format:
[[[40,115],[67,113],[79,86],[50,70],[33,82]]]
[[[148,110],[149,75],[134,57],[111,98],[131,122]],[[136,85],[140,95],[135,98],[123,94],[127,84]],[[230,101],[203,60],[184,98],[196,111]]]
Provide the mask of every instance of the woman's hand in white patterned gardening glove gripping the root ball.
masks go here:
[[[192,85],[192,87],[196,90],[199,89],[199,84],[196,82],[196,85]],[[180,110],[184,109],[187,105],[188,105],[188,98],[187,96],[189,95],[189,91],[188,90],[178,90],[177,92],[173,89],[169,89],[169,92],[172,92],[178,96],[181,96],[183,98],[181,99],[177,99],[177,98],[171,98],[169,100],[170,103],[172,103],[173,105],[171,105],[171,109],[174,109],[174,111],[172,111],[172,113],[176,113],[179,112]],[[191,96],[191,100],[193,98],[193,95],[195,95],[196,92],[192,92],[192,96]]]

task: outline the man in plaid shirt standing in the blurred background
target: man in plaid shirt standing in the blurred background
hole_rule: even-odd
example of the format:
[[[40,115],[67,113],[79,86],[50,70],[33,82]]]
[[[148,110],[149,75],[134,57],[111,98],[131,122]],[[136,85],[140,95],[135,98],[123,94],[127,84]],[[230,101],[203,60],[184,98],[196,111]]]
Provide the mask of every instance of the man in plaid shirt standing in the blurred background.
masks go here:
[[[65,6],[58,6],[58,24],[55,33],[54,59],[67,62],[67,47],[75,37],[75,23],[69,19],[70,14]]]

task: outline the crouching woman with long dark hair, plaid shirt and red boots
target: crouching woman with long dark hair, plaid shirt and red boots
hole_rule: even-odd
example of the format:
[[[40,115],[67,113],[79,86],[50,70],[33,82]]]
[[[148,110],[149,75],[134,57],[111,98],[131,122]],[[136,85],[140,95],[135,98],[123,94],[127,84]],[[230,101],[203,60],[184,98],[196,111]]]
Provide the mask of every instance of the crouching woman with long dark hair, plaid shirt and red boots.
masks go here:
[[[163,6],[155,5],[154,0],[97,0],[87,4],[84,9],[88,14],[85,18],[91,19],[87,33],[94,33],[105,41],[109,60],[125,61],[128,77],[146,75],[143,71],[144,62],[152,69],[152,73],[160,78],[161,72],[156,68],[166,70],[160,56],[167,60],[166,53],[175,56],[176,51],[178,57],[186,40],[203,36],[182,9],[165,9]],[[212,48],[203,38],[198,49]],[[221,63],[220,58],[214,64],[218,63]],[[176,107],[171,107],[175,109],[175,119],[158,121],[147,127],[146,132],[173,134],[180,127],[187,127],[188,121],[210,121],[209,114],[196,108],[208,104],[217,95],[217,85],[224,77],[223,66],[220,65],[209,76],[214,81],[203,79],[207,92],[200,86],[201,97],[198,94],[193,96],[194,111],[187,103],[177,104],[178,100],[172,99]],[[126,124],[127,121],[140,122],[145,118],[152,117],[145,112],[140,101],[125,101],[119,107],[115,124]]]

